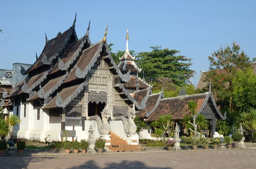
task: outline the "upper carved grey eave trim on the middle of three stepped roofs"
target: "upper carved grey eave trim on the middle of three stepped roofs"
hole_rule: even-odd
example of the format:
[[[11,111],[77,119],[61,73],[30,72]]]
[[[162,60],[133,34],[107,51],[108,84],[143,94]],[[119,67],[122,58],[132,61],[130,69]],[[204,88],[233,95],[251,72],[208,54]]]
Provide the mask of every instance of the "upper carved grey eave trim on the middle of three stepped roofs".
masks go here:
[[[67,61],[66,64],[64,64],[64,62],[58,58],[59,60],[59,64],[58,64],[58,68],[61,70],[67,70],[69,68],[69,66],[76,60],[76,58],[79,56],[79,53],[81,52],[82,48],[84,47],[84,44],[86,43],[86,40],[89,43],[89,38],[84,36],[83,40],[81,40],[81,44],[79,45],[78,49],[76,49],[75,54],[73,54],[72,58],[70,60]],[[90,43],[89,43],[90,44]]]

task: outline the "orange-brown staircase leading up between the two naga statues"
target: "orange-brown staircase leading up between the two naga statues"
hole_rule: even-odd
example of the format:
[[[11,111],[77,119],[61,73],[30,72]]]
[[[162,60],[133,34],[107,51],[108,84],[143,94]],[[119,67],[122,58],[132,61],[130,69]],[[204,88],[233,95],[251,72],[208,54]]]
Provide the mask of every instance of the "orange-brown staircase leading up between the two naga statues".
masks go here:
[[[126,140],[123,140],[121,137],[115,135],[113,132],[110,132],[111,145],[107,146],[111,152],[131,152],[131,151],[141,151],[143,150],[138,145],[128,145]]]

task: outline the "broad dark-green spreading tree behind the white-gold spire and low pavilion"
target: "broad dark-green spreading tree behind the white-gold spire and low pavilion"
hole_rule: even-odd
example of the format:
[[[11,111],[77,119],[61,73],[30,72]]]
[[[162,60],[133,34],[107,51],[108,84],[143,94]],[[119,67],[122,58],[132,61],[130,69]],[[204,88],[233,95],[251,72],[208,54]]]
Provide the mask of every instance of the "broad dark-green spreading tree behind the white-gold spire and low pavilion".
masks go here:
[[[179,51],[161,49],[161,46],[151,46],[151,52],[138,53],[137,62],[145,72],[145,80],[157,81],[160,77],[169,78],[172,83],[181,86],[189,83],[195,71],[190,69],[191,59],[185,56],[175,56]]]

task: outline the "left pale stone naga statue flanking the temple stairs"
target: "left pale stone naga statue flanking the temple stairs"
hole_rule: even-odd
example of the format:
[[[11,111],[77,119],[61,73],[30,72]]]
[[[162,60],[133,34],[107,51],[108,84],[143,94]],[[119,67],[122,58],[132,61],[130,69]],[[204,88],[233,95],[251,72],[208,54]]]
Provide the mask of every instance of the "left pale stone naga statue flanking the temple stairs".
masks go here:
[[[87,120],[96,120],[98,126],[98,132],[100,135],[109,135],[110,125],[108,123],[108,118],[110,117],[110,113],[108,112],[108,104],[101,112],[102,119],[98,115],[86,117]]]

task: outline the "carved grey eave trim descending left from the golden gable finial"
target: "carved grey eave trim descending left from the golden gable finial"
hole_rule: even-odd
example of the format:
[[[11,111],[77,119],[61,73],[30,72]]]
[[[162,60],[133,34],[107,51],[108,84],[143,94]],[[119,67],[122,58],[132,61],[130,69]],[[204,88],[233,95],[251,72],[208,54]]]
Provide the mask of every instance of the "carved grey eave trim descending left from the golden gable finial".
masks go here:
[[[102,47],[104,45],[104,43],[102,43],[102,41],[99,42],[99,47],[98,47],[98,50],[97,52],[94,54],[93,56],[93,59],[90,61],[90,63],[86,66],[86,68],[83,70],[83,72],[81,71],[81,69],[75,65],[75,68],[76,68],[76,77],[78,77],[79,79],[81,78],[84,78],[89,70],[94,66],[95,62],[97,61],[99,55],[100,55],[100,52],[102,52]],[[98,43],[96,43],[94,46],[96,46]],[[88,50],[88,49],[91,49],[93,48],[94,46],[90,46],[89,48],[85,49],[85,50]]]

